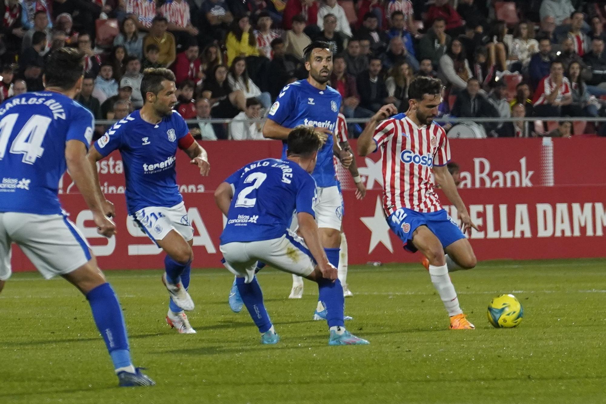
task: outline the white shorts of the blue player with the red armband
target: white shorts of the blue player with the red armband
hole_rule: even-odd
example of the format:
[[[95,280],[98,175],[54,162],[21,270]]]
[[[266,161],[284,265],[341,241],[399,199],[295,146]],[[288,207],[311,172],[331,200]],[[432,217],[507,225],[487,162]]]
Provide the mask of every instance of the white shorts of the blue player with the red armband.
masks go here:
[[[173,207],[145,207],[137,210],[131,217],[154,242],[162,240],[171,230],[181,234],[185,241],[193,239],[193,227],[187,217],[184,202]]]

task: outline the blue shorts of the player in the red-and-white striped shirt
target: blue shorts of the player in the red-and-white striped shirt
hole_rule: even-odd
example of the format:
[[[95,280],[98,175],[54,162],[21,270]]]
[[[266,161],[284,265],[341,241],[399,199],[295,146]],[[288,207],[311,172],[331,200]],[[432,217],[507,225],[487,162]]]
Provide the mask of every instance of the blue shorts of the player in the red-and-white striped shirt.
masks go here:
[[[413,234],[419,226],[427,226],[438,237],[444,248],[450,246],[454,241],[465,238],[458,224],[444,209],[438,210],[438,212],[421,213],[401,207],[389,215],[387,224],[402,240],[404,249],[410,252],[417,251],[413,244]]]

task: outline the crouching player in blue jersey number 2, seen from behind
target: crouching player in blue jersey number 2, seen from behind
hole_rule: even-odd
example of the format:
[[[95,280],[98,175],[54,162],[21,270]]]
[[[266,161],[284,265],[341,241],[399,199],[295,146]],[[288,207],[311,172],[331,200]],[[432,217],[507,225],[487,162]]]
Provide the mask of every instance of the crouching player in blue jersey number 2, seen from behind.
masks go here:
[[[296,127],[287,138],[287,158],[250,163],[215,192],[215,201],[227,217],[219,249],[225,266],[236,275],[236,287],[264,344],[278,343],[279,336],[255,277],[258,261],[318,283],[328,312],[328,345],[368,344],[344,327],[343,288],[322,248],[315,221],[318,194],[309,173],[316,167],[322,143],[323,136],[313,128]],[[288,229],[293,212],[302,239]]]

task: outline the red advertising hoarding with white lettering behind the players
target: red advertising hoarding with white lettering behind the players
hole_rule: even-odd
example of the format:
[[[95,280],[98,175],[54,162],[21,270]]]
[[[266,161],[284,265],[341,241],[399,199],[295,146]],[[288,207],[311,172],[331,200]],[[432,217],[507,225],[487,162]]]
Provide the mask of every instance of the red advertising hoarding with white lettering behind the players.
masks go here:
[[[352,142],[353,143],[353,142]],[[482,231],[470,234],[480,260],[513,258],[601,257],[606,226],[606,175],[587,150],[604,148],[602,139],[453,140],[453,160],[461,166],[461,196]],[[279,157],[276,141],[207,142],[211,163],[209,177],[200,177],[196,166],[179,153],[178,183],[195,229],[196,268],[220,266],[219,235],[223,217],[213,200],[213,190],[244,164],[265,157]],[[355,147],[355,144],[353,145]],[[362,201],[345,181],[344,229],[351,264],[367,261],[419,260],[401,248],[391,234],[381,210],[379,153],[358,158],[368,187]],[[585,159],[585,160],[582,160]],[[579,172],[579,161],[583,161]],[[103,269],[147,269],[162,266],[161,251],[127,216],[124,201],[124,167],[118,153],[98,165],[102,189],[116,205],[118,234],[106,239],[96,234],[92,214],[68,175],[60,184],[62,204],[93,246]],[[543,186],[545,183],[553,186]],[[448,201],[442,203],[451,211]],[[33,267],[18,249],[13,250],[13,270]]]

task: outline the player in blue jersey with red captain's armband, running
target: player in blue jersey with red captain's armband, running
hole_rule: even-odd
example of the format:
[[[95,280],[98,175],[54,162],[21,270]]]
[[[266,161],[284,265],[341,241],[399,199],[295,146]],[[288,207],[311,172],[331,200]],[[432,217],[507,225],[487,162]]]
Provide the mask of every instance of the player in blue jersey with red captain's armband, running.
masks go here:
[[[88,152],[96,162],[120,150],[126,176],[128,214],[164,252],[162,282],[170,301],[166,322],[182,334],[195,334],[185,311],[194,308],[187,292],[193,260],[193,228],[176,183],[177,149],[208,175],[207,153],[173,110],[177,102],[175,75],[168,69],[145,69],[141,81],[143,107],[116,122]],[[93,170],[95,173],[96,168]],[[109,204],[109,202],[107,202]]]

